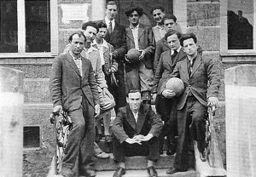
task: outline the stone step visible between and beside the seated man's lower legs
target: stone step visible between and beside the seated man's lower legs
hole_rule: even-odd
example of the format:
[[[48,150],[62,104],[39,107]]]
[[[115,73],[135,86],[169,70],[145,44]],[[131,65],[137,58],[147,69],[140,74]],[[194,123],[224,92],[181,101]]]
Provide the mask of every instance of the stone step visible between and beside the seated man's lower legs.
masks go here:
[[[166,153],[160,155],[159,161],[156,163],[155,168],[170,168],[172,167],[175,156],[167,156]],[[125,157],[126,169],[146,169],[147,168],[147,157]],[[97,171],[115,170],[117,163],[113,161],[113,154],[110,154],[108,159],[95,160],[95,168]]]

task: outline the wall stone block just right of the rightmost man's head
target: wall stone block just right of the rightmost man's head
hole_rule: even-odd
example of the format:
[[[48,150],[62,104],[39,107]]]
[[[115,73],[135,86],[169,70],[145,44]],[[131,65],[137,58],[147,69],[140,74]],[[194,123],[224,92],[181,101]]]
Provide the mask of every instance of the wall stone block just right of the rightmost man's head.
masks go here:
[[[219,51],[219,27],[189,27],[188,32],[195,34],[204,51]]]

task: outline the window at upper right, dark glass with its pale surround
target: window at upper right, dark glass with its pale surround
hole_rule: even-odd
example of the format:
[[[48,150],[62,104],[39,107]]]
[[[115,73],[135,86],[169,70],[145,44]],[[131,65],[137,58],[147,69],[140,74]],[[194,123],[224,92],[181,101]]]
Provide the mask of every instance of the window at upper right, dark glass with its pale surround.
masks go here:
[[[223,55],[256,54],[256,3],[221,1],[220,52]]]

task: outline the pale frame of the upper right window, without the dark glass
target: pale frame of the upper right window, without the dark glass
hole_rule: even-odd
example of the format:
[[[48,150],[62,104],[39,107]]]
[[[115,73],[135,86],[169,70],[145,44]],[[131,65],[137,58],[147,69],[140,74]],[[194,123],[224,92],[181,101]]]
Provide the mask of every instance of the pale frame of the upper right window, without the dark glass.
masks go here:
[[[256,55],[256,3],[253,2],[253,49],[228,49],[228,2],[229,0],[220,1],[220,55]]]

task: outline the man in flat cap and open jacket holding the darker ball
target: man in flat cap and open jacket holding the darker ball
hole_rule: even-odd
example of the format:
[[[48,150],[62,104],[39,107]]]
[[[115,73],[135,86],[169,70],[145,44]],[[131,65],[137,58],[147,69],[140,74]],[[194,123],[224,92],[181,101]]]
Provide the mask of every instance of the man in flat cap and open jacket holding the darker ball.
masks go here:
[[[128,60],[125,63],[127,88],[139,89],[142,92],[143,102],[150,103],[150,90],[154,79],[154,35],[151,27],[139,23],[143,15],[142,8],[131,7],[125,14],[130,21],[130,26],[125,29],[127,51],[138,49],[141,53],[137,63],[130,63]]]

